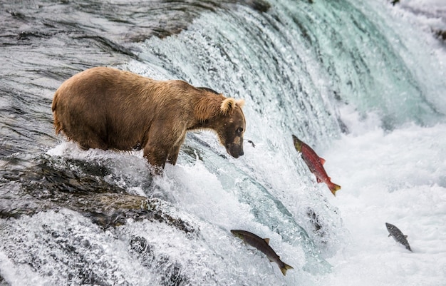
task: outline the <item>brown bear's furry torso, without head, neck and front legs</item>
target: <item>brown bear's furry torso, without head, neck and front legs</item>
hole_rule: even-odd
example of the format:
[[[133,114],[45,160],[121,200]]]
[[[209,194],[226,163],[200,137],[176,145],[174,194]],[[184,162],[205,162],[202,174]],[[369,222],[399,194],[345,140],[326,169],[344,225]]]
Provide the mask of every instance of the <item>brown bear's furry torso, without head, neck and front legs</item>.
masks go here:
[[[203,91],[185,81],[155,81],[116,68],[90,68],[56,91],[54,126],[56,133],[62,131],[84,148],[131,150],[145,144],[155,121],[186,126],[193,118],[197,92]]]

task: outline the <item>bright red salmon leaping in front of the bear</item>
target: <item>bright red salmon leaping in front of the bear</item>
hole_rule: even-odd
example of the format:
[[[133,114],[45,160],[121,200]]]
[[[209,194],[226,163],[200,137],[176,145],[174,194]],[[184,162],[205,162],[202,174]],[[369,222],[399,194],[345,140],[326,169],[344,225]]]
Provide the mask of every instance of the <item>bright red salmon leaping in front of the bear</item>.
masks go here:
[[[316,154],[310,146],[306,145],[303,141],[299,140],[293,135],[294,148],[297,152],[302,153],[302,159],[310,169],[311,173],[316,175],[316,180],[318,183],[326,183],[328,188],[331,190],[334,196],[336,196],[336,191],[341,189],[340,185],[336,185],[331,182],[331,178],[328,177],[326,170],[323,168],[323,163],[325,160]]]

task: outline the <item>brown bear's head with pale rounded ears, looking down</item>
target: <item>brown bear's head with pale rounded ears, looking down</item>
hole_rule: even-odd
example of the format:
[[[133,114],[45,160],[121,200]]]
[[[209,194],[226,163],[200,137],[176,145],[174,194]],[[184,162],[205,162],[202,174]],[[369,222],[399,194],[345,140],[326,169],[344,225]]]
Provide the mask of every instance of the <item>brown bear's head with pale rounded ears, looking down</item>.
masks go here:
[[[220,106],[221,115],[214,122],[214,131],[217,132],[220,143],[234,158],[243,155],[243,135],[246,128],[243,105],[242,99],[224,99]]]

